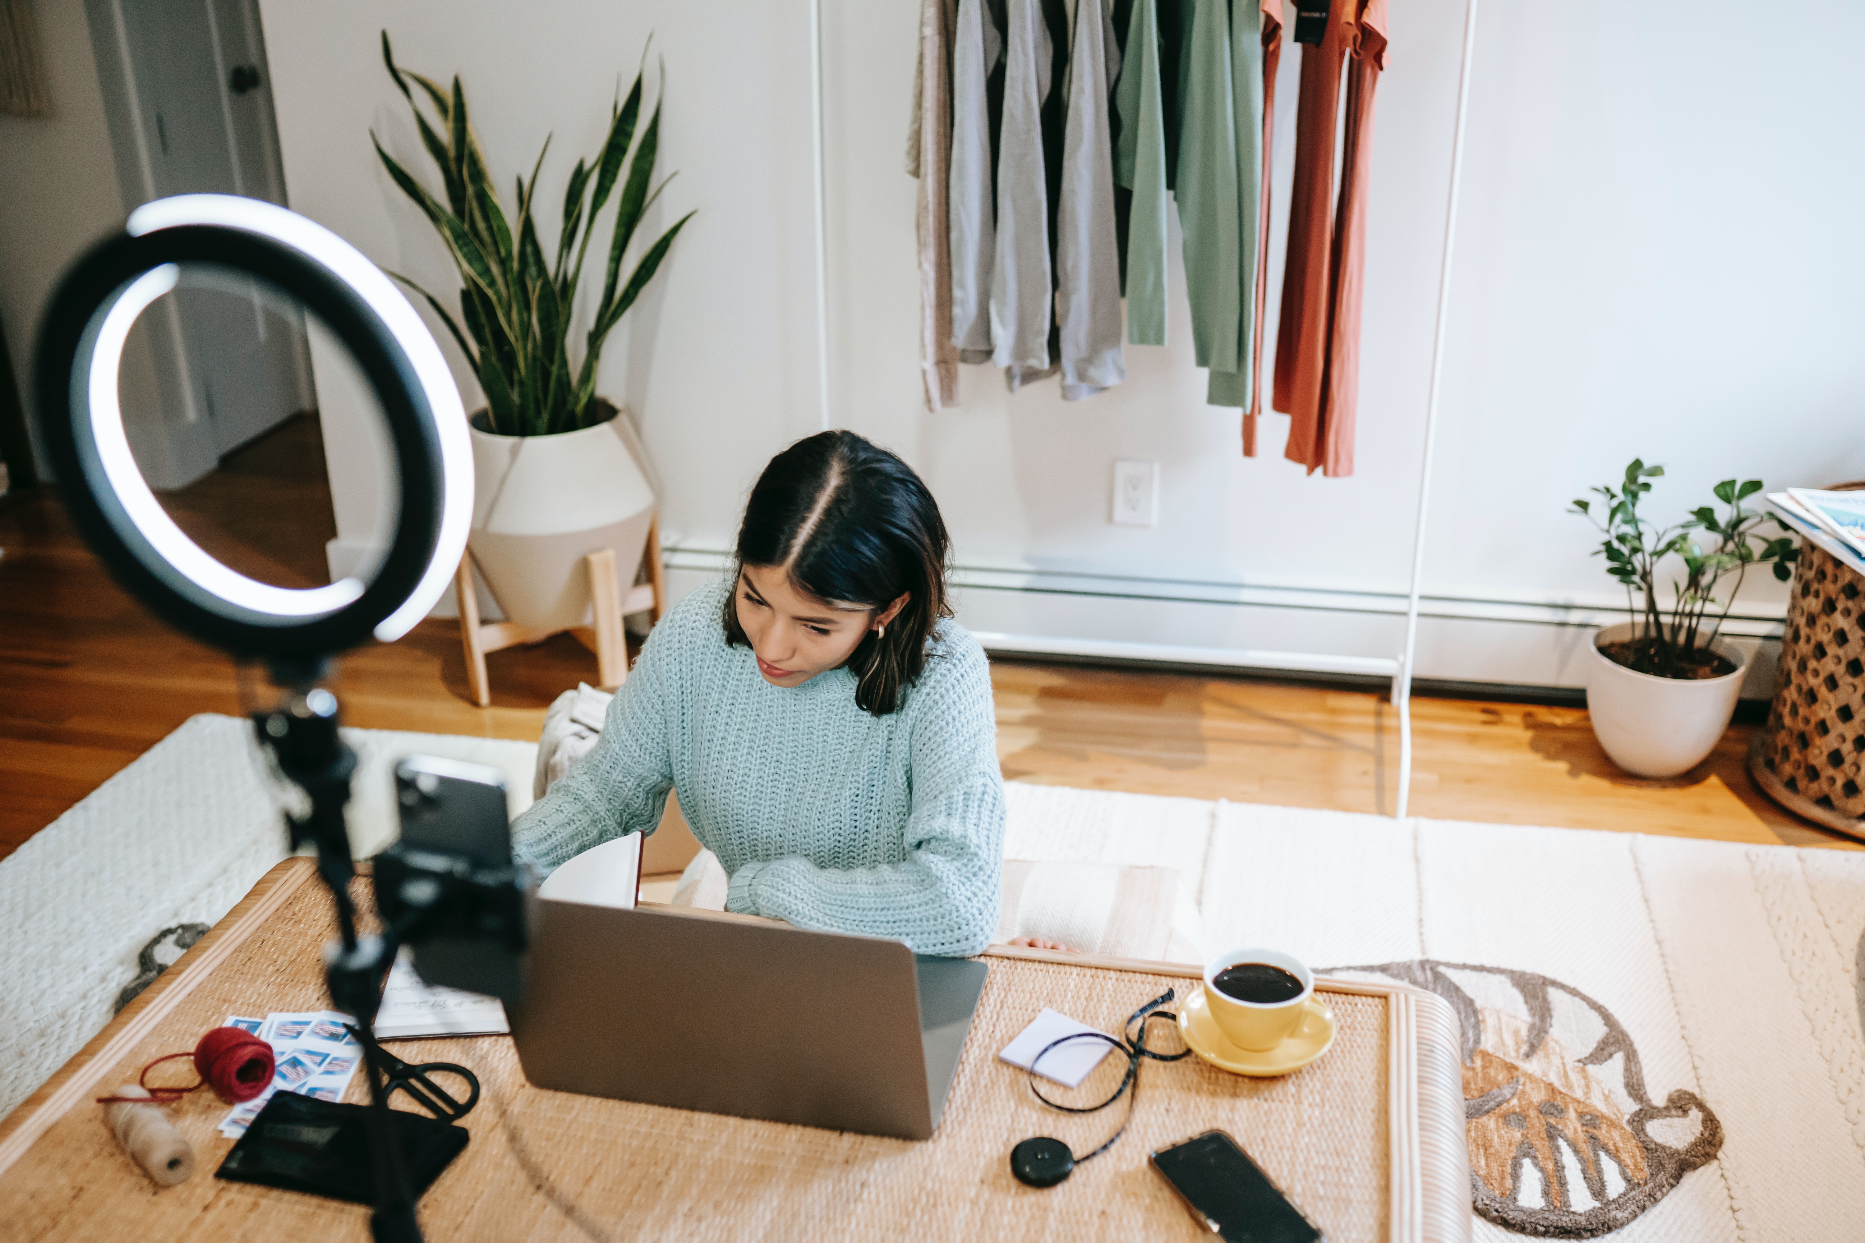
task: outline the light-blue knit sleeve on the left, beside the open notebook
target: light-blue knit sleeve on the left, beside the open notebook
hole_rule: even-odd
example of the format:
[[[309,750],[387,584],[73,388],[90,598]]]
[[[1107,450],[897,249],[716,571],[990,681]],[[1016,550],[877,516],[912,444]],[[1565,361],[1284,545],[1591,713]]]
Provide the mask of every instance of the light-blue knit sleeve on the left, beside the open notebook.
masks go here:
[[[513,855],[548,876],[627,833],[653,833],[673,786],[666,690],[673,628],[655,626],[602,717],[602,736],[511,826]]]

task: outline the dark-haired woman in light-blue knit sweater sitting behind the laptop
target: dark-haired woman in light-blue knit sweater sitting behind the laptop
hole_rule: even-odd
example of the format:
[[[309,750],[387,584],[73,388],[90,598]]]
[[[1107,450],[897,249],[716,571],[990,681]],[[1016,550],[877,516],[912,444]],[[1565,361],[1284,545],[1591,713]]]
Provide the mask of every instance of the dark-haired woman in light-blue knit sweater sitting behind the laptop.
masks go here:
[[[677,788],[725,908],[977,954],[998,922],[1003,781],[990,673],[946,604],[932,494],[821,432],[770,460],[735,572],[681,600],[602,740],[513,826],[548,872],[653,833]]]

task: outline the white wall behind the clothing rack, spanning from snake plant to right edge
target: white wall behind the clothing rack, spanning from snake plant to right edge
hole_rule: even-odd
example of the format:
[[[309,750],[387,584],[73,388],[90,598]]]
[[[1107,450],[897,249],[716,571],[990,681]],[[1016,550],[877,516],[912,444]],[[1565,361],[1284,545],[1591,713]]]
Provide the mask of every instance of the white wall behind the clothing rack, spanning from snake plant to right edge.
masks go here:
[[[617,337],[602,388],[632,404],[668,485],[675,581],[718,565],[763,460],[815,429],[808,7],[780,4],[295,6],[267,43],[293,207],[399,270],[442,281],[425,222],[375,168],[367,127],[418,143],[377,58],[459,69],[494,171],[556,130],[545,183],[597,142],[614,75],[647,32],[668,65],[666,211],[699,207]],[[1391,654],[1417,494],[1458,0],[1395,9],[1375,132],[1360,471],[1304,477],[1238,455],[1203,404],[1190,330],[1130,348],[1128,382],[1067,404],[966,369],[927,414],[914,362],[912,181],[901,168],[918,0],[824,0],[832,416],[893,445],[957,537],[974,628],[1205,647]],[[1802,32],[1818,30],[1817,39]],[[1421,635],[1425,676],[1574,684],[1611,606],[1589,529],[1563,511],[1634,455],[1680,516],[1727,475],[1772,486],[1865,475],[1865,93],[1846,48],[1865,9],[1813,0],[1792,26],[1749,6],[1485,6],[1471,88]],[[1276,201],[1287,203],[1298,56],[1283,65]],[[418,162],[418,160],[416,160]],[[671,218],[671,216],[666,216]],[[1281,218],[1272,242],[1272,311]],[[1175,298],[1182,280],[1175,274]],[[1274,337],[1272,337],[1274,341]],[[448,347],[451,348],[451,347]],[[323,388],[323,375],[319,376]],[[466,386],[470,389],[470,384]],[[1162,464],[1160,526],[1106,522],[1113,458]],[[339,531],[362,529],[345,498]],[[351,514],[347,520],[345,514]],[[1751,581],[1736,630],[1775,628]],[[1751,690],[1761,690],[1759,684]]]

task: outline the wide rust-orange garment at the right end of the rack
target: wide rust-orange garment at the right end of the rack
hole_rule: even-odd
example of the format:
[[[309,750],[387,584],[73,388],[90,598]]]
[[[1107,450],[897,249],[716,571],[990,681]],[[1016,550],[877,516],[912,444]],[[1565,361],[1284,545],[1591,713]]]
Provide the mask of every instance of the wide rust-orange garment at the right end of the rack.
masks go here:
[[[1335,0],[1320,45],[1302,48],[1294,188],[1272,401],[1291,416],[1283,457],[1309,473],[1354,471],[1360,285],[1373,88],[1386,63],[1386,0]],[[1352,52],[1339,207],[1332,201],[1341,67]],[[1330,397],[1332,388],[1332,397]]]

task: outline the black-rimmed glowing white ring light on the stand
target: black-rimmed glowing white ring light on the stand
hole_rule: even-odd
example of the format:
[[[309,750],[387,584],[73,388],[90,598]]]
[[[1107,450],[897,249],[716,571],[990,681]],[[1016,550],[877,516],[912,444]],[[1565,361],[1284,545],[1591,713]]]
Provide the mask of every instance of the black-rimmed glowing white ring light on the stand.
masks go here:
[[[131,455],[117,397],[136,319],[181,266],[257,278],[297,298],[367,378],[395,447],[401,512],[375,581],[311,589],[239,574],[164,512]],[[136,209],[67,272],[37,350],[39,417],[73,518],[119,581],[177,628],[242,656],[306,660],[394,641],[427,615],[466,548],[472,444],[440,347],[354,246],[259,199],[186,194]]]

